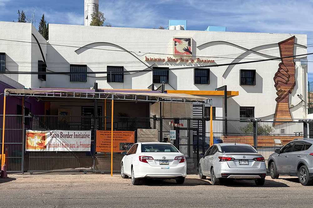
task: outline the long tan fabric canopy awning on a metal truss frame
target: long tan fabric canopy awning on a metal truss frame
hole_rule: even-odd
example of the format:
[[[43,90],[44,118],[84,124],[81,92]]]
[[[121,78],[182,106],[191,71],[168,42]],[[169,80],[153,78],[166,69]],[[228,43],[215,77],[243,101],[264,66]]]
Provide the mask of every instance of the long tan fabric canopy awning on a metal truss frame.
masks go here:
[[[98,90],[93,89],[5,89],[6,96],[29,96],[45,98],[77,98],[77,99],[116,99],[152,102],[204,102],[209,98],[190,94],[161,93],[147,90]]]

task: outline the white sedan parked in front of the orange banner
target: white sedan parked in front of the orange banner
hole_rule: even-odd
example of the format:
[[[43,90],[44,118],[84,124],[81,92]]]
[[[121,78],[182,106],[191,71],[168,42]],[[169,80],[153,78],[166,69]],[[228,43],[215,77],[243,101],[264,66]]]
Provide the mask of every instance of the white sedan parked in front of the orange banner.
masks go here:
[[[141,178],[175,179],[183,184],[187,176],[186,158],[171,143],[136,143],[122,155],[121,176],[131,176],[133,185]]]

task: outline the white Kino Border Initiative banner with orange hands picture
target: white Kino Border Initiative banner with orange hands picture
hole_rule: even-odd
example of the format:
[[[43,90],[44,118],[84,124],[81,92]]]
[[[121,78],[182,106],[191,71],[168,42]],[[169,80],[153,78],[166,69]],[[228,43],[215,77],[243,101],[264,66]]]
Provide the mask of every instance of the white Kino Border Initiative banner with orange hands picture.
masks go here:
[[[26,130],[26,151],[90,151],[91,131]]]

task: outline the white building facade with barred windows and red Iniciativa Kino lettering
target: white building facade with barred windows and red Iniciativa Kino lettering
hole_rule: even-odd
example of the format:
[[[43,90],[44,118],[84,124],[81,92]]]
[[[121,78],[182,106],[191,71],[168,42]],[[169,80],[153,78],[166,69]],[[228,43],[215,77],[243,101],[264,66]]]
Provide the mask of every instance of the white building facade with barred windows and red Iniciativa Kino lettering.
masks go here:
[[[156,89],[165,83],[168,92],[212,98],[215,116],[223,117],[223,92],[215,89],[227,85],[231,91],[227,99],[228,117],[236,118],[274,118],[276,88],[280,88],[288,98],[284,98],[284,107],[279,108],[289,109],[290,119],[307,117],[307,106],[303,102],[307,96],[307,65],[301,62],[306,60],[306,55],[293,59],[294,74],[290,69],[289,74],[282,70],[277,74],[282,62],[280,57],[289,56],[284,55],[284,50],[288,50],[280,49],[278,43],[291,38],[290,41],[294,41],[291,56],[306,54],[304,34],[49,24],[49,41],[45,41],[29,23],[0,22],[0,30],[0,54],[5,54],[6,71],[36,72],[38,61],[46,61],[47,72],[82,72],[80,75],[47,74],[46,81],[38,79],[37,74],[7,74],[26,88],[89,89],[97,82],[100,89],[151,89],[153,84]],[[239,64],[271,58],[277,59]],[[230,63],[234,65],[228,65]],[[290,68],[290,64],[285,65]],[[203,66],[205,68],[198,68]],[[294,77],[294,87],[275,88],[275,76],[278,77],[276,83],[280,84],[284,76],[289,77],[285,80],[287,86],[293,85]],[[281,115],[276,112],[276,118]]]

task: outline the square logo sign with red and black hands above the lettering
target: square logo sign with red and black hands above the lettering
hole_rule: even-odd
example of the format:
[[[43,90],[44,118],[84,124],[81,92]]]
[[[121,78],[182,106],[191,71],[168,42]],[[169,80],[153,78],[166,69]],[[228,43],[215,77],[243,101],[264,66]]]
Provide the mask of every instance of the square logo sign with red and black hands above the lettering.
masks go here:
[[[192,38],[173,37],[174,55],[192,56]]]

